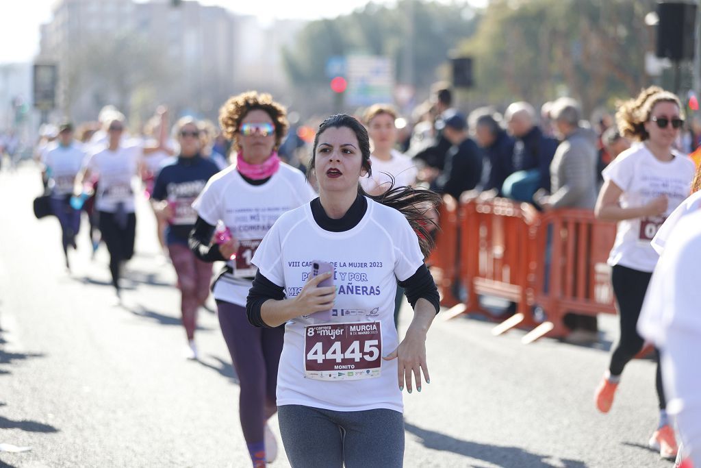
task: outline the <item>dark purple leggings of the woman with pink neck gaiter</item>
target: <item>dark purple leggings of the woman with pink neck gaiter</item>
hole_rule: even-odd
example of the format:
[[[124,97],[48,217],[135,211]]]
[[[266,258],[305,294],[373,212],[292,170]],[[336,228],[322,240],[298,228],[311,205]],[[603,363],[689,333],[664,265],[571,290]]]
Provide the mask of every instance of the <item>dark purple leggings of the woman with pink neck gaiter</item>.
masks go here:
[[[285,327],[256,328],[248,323],[244,306],[223,300],[217,300],[217,312],[238,375],[238,413],[252,452],[251,447],[262,446],[266,421],[278,410],[275,388]]]

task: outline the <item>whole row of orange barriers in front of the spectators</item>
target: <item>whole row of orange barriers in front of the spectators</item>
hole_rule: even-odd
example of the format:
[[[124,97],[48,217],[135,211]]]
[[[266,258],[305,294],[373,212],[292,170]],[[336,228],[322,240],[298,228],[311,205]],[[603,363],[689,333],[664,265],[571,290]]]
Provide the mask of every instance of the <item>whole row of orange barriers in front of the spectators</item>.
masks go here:
[[[615,223],[594,218],[590,210],[554,210],[541,214],[529,203],[507,199],[466,201],[459,208],[441,208],[442,231],[430,256],[442,293],[442,305],[451,307],[445,318],[464,312],[482,312],[480,295],[500,297],[516,304],[516,313],[493,330],[495,335],[516,326],[531,328],[523,342],[542,336],[564,337],[569,312],[615,314],[608,251],[615,239]],[[547,293],[545,254],[548,230],[550,263]],[[467,291],[461,304],[455,296],[455,278]],[[536,306],[545,321],[533,314]]]

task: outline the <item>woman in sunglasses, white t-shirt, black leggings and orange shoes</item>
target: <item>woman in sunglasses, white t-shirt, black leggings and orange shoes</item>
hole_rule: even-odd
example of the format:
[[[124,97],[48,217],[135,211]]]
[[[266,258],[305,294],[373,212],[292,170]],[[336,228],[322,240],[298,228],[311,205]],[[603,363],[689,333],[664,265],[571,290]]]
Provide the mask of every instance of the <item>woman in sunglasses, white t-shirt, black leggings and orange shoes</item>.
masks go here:
[[[683,123],[681,112],[676,95],[651,86],[637,98],[622,103],[616,114],[621,135],[637,143],[604,169],[604,185],[595,208],[597,218],[618,222],[608,265],[620,338],[594,394],[601,413],[611,409],[623,368],[644,345],[636,326],[658,261],[651,240],[689,194],[694,163],[673,147]],[[648,444],[662,457],[674,459],[677,447],[667,417],[659,354],[656,380],[660,423]]]

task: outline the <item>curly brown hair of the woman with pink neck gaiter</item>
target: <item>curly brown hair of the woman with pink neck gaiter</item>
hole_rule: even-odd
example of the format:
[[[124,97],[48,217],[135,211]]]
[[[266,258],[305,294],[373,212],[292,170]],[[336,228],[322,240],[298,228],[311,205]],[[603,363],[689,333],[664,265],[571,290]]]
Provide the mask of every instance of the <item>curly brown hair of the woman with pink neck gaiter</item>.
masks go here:
[[[236,135],[243,118],[254,109],[261,109],[268,113],[275,124],[275,149],[280,147],[287,128],[287,111],[278,102],[273,101],[273,96],[268,93],[257,93],[257,91],[246,91],[236,96],[231,96],[229,100],[219,109],[219,126],[227,140],[233,142],[233,147],[238,150]]]

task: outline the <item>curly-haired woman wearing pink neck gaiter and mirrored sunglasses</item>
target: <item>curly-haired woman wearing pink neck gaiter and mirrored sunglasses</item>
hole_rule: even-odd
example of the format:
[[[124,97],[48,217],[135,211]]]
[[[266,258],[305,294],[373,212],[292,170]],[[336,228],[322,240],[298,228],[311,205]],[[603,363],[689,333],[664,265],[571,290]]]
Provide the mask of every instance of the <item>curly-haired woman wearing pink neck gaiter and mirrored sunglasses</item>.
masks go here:
[[[236,154],[193,202],[198,218],[189,239],[200,260],[226,261],[212,290],[240,382],[241,428],[254,467],[264,467],[277,451],[266,421],[277,411],[275,385],[285,330],[248,323],[246,297],[256,274],[250,260],[275,220],[315,197],[304,174],[278,157],[287,131],[285,115],[271,95],[255,91],[224,103],[219,124]],[[211,243],[218,223],[225,230],[217,234],[218,243]]]

